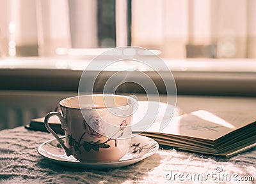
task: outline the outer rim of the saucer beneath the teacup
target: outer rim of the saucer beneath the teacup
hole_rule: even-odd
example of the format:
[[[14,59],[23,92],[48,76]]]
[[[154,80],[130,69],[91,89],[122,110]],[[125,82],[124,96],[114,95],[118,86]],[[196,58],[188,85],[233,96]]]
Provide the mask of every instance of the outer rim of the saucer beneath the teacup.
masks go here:
[[[156,144],[156,147],[152,148],[152,151],[150,151],[150,152],[147,152],[147,153],[145,153],[143,155],[138,155],[138,157],[127,159],[127,160],[118,160],[118,161],[115,161],[115,162],[80,162],[79,160],[77,160],[77,162],[75,162],[75,161],[72,161],[72,160],[58,160],[58,158],[54,159],[52,157],[49,157],[47,155],[47,153],[46,153],[46,155],[44,155],[44,153],[42,153],[42,146],[44,146],[45,144],[47,144],[47,143],[49,143],[51,141],[56,141],[56,138],[49,139],[48,141],[45,141],[44,143],[42,143],[38,147],[37,152],[39,153],[39,155],[41,155],[42,157],[44,157],[47,160],[51,160],[53,162],[56,162],[56,163],[62,164],[62,165],[66,165],[66,166],[68,164],[68,165],[72,165],[73,167],[83,167],[83,168],[92,168],[92,169],[99,169],[97,166],[101,166],[100,168],[102,168],[102,169],[124,167],[124,166],[129,166],[131,164],[135,164],[136,162],[140,162],[143,159],[147,159],[147,157],[150,157],[150,156],[154,155],[154,153],[156,153],[157,150],[159,150],[159,144],[154,139],[148,138],[147,136],[141,136],[141,135],[138,135],[138,134],[136,134],[136,136],[132,136],[132,138],[135,138],[137,136],[140,139],[147,138],[148,140],[153,141],[154,144]],[[60,138],[63,139],[63,138],[65,138],[65,136],[61,136]]]

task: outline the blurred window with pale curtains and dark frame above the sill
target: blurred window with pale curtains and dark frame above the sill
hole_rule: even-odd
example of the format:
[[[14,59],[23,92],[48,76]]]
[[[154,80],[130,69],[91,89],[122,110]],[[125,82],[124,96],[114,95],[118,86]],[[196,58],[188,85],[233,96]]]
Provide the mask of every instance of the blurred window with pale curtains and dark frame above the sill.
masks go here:
[[[1,0],[1,52],[134,45],[167,58],[255,58],[255,8],[253,0]]]

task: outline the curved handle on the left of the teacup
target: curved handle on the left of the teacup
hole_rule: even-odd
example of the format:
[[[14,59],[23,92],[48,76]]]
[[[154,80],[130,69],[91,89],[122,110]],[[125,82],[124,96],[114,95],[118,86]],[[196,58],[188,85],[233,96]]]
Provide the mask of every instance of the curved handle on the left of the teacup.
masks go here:
[[[60,143],[61,147],[64,149],[65,153],[67,156],[72,155],[72,153],[70,152],[70,150],[64,145],[64,143],[61,141],[61,139],[59,138],[59,136],[52,131],[51,127],[49,126],[48,120],[50,117],[52,116],[57,116],[60,119],[61,122],[61,128],[64,129],[65,127],[67,127],[67,123],[65,121],[65,119],[61,116],[60,113],[58,112],[51,112],[51,113],[47,113],[47,115],[44,118],[44,124],[46,129],[51,132],[51,134],[54,136],[54,138],[56,138],[56,140],[58,141],[58,143]]]

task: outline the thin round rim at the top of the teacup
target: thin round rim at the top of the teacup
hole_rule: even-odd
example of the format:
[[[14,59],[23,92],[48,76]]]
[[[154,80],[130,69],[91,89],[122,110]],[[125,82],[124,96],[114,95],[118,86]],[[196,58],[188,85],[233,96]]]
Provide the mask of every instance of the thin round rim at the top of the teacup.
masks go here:
[[[118,97],[125,97],[126,99],[132,99],[133,100],[133,102],[131,104],[127,104],[127,105],[124,105],[124,106],[116,106],[116,107],[113,107],[113,108],[107,108],[109,110],[115,109],[115,108],[124,108],[126,106],[131,106],[131,105],[135,104],[136,101],[137,101],[134,97],[123,96],[123,95],[116,95],[116,94],[88,94],[88,95],[83,95],[83,96],[118,96]],[[68,109],[72,109],[72,110],[92,110],[90,108],[80,108],[80,107],[76,108],[76,107],[70,107],[70,106],[65,106],[65,105],[61,104],[61,102],[65,101],[67,99],[74,99],[74,98],[78,98],[79,99],[79,97],[83,97],[83,96],[66,97],[65,99],[62,99],[59,104],[63,108],[68,108]],[[80,103],[79,103],[79,106],[80,106]],[[104,110],[104,109],[106,110],[106,108],[97,108],[97,110]]]

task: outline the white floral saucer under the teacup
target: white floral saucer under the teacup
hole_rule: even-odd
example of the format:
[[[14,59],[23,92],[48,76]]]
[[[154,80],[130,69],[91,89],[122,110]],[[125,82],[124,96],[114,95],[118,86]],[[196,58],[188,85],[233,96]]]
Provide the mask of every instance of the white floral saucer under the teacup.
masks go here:
[[[61,137],[65,141],[65,137]],[[143,148],[141,148],[143,146]],[[141,149],[140,149],[141,148]],[[86,169],[111,169],[115,167],[129,166],[140,160],[150,157],[158,150],[159,145],[154,139],[146,136],[133,136],[129,151],[117,162],[79,162],[72,155],[67,157],[56,139],[46,141],[38,148],[38,153],[45,159],[68,167],[80,167]]]

